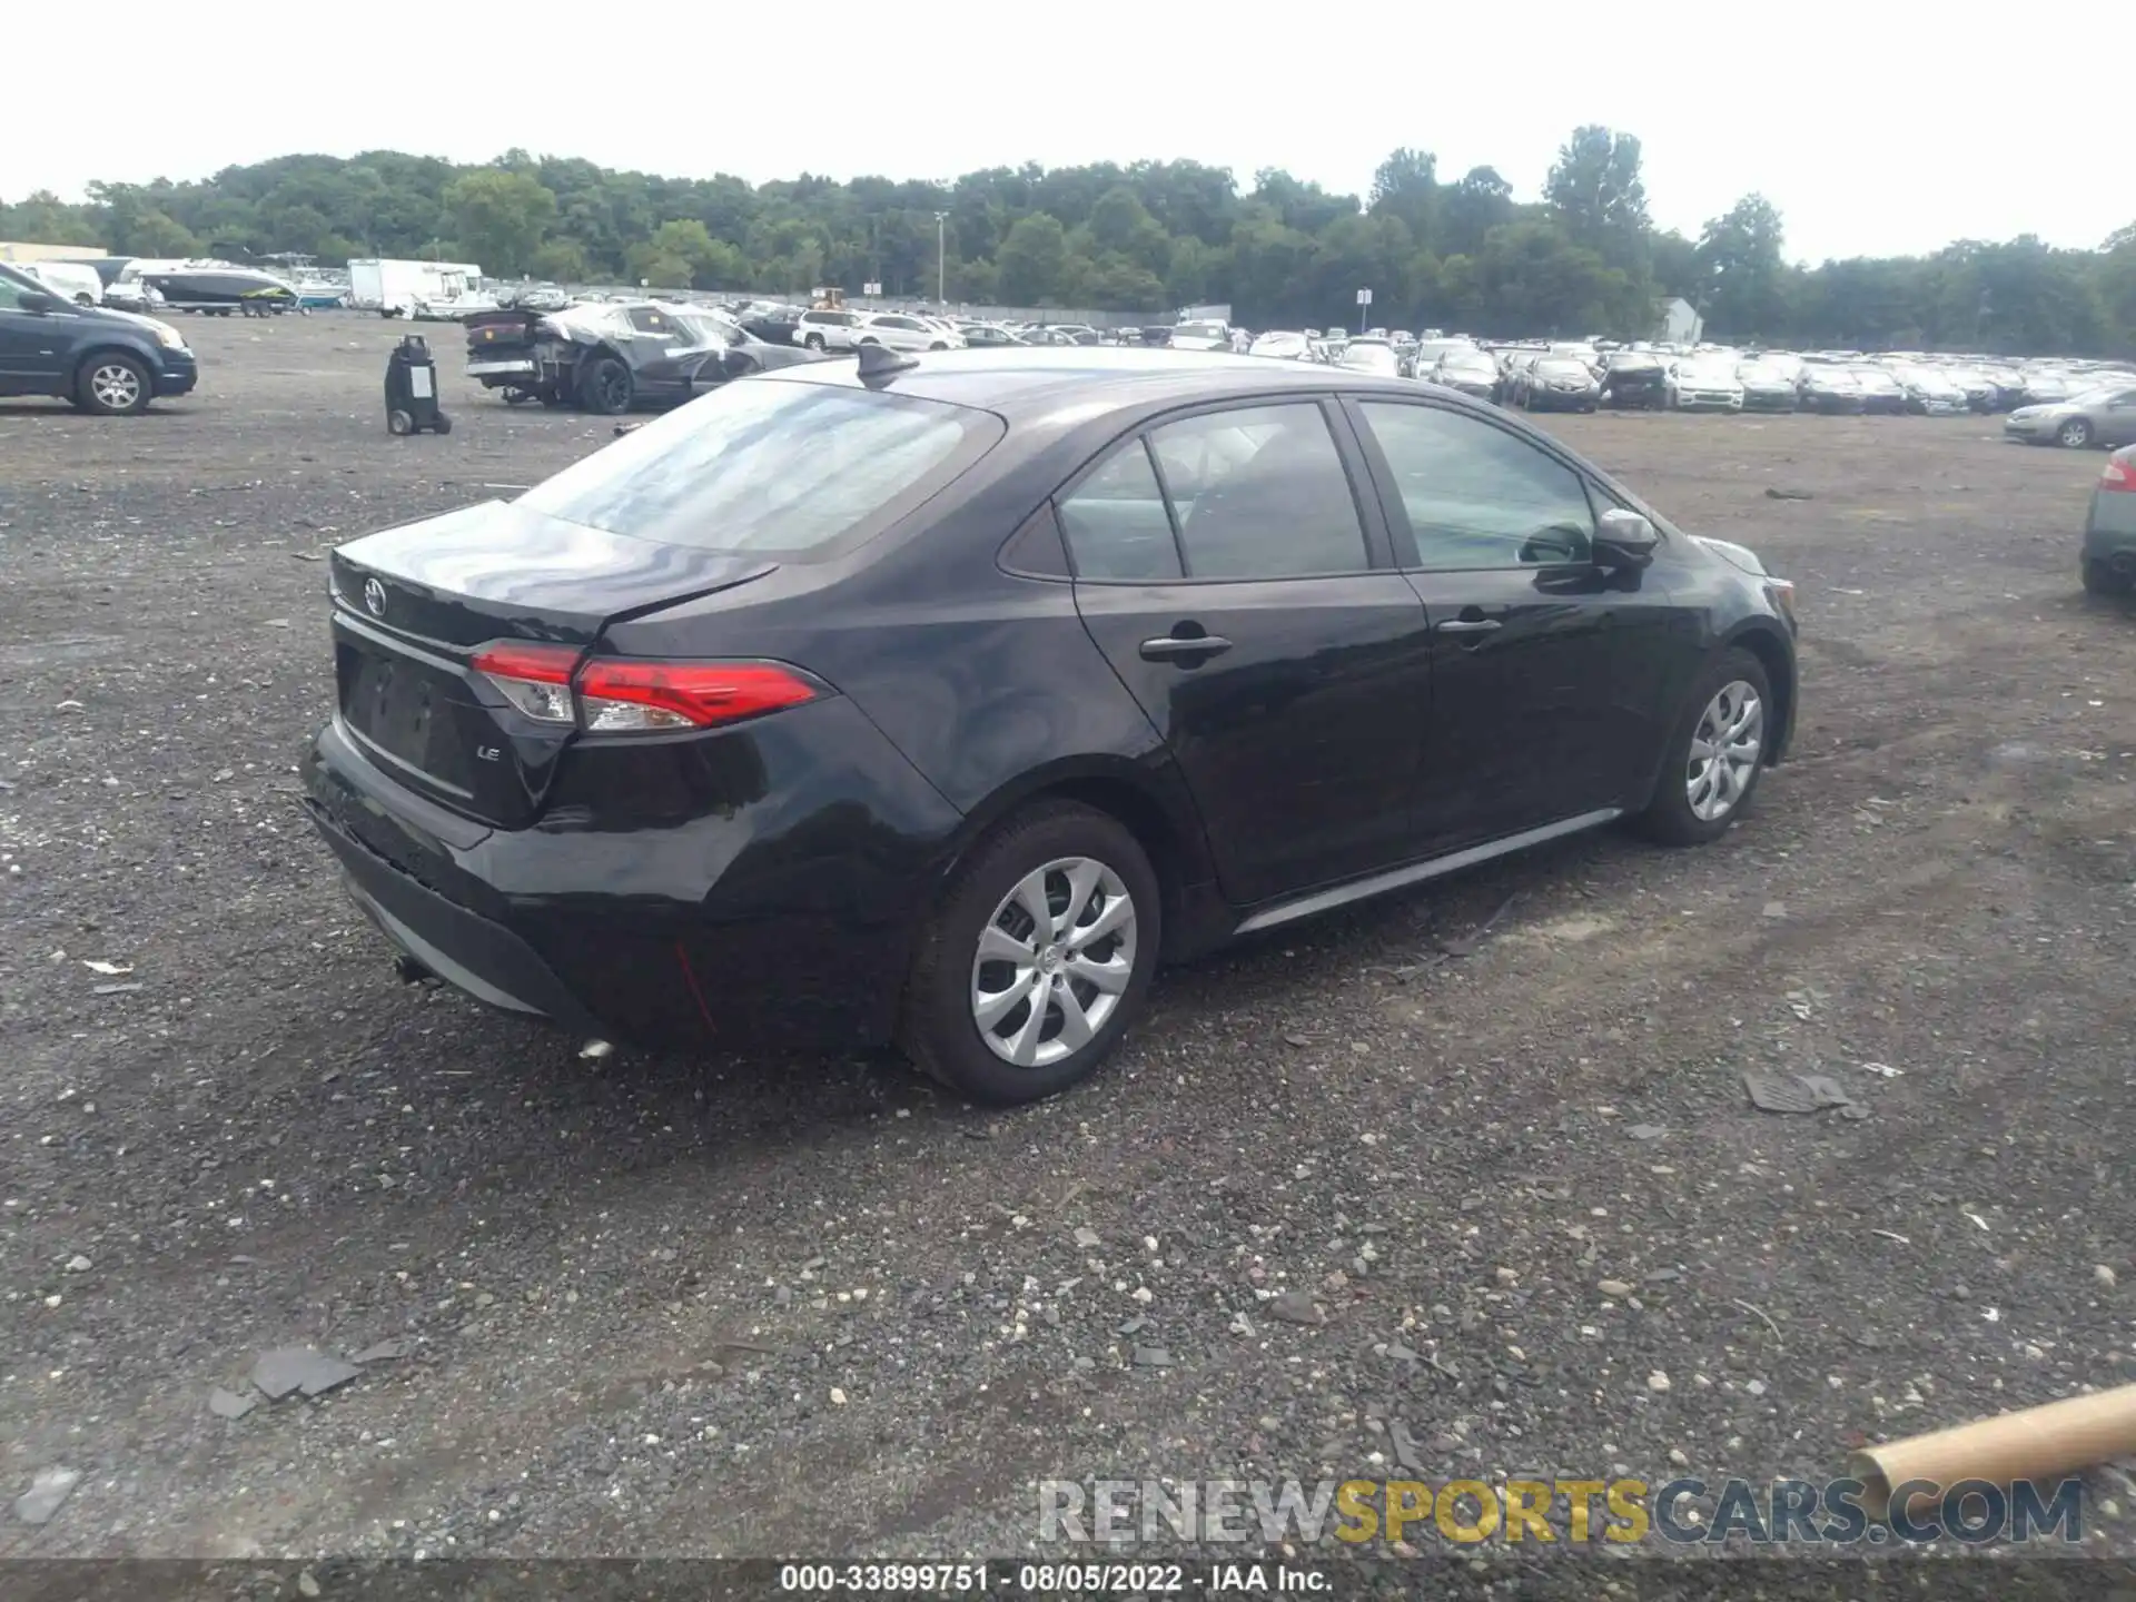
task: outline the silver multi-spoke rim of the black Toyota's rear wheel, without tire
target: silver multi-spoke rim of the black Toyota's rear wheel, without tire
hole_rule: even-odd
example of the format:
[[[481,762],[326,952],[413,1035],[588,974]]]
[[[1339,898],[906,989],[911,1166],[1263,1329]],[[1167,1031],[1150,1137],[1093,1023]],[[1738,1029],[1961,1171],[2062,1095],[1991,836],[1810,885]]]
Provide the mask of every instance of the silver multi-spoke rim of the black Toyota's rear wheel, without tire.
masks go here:
[[[1002,1062],[1047,1068],[1081,1051],[1134,978],[1134,897],[1089,857],[1032,869],[993,908],[972,955],[972,1023]]]

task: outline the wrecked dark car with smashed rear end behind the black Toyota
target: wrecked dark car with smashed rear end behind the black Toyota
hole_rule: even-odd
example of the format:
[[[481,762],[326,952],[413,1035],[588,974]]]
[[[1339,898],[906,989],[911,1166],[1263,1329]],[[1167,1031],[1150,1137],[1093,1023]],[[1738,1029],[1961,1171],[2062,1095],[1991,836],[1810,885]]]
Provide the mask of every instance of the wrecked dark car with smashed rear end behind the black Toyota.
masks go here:
[[[707,389],[816,352],[765,344],[739,323],[696,305],[590,301],[568,312],[474,312],[468,378],[519,406],[577,406],[600,417],[677,404]]]

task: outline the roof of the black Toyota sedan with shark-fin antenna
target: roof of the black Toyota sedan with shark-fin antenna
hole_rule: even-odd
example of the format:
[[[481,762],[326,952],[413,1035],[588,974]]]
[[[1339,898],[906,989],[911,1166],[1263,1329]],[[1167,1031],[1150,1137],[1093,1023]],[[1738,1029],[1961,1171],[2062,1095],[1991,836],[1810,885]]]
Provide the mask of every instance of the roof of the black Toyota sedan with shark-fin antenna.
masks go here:
[[[1418,395],[1416,384],[1373,378],[1318,363],[1252,361],[1218,350],[1164,346],[985,346],[978,350],[914,352],[912,365],[874,380],[893,395],[974,406],[1010,425],[1049,419],[1066,408],[1104,410],[1190,406],[1230,395],[1271,391],[1378,391]],[[861,387],[859,367],[844,361],[803,363],[763,374],[756,382]]]

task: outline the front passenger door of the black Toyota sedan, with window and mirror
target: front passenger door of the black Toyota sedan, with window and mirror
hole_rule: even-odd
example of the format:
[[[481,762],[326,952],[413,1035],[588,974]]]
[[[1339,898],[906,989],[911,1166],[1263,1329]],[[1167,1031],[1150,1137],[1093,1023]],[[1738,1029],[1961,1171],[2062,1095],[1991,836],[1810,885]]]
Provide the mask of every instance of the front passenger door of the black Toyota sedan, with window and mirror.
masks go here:
[[[1596,566],[1585,478],[1534,440],[1423,399],[1354,414],[1431,617],[1429,850],[1625,805],[1655,726],[1619,666],[1672,628],[1666,590]]]

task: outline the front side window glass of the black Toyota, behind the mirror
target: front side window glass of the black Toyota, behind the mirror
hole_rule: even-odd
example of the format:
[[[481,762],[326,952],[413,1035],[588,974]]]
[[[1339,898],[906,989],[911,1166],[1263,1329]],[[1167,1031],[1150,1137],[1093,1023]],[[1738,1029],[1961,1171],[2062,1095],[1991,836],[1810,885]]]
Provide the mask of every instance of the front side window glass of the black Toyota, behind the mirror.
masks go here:
[[[1435,406],[1361,402],[1427,570],[1593,560],[1593,508],[1572,468],[1517,434]]]

